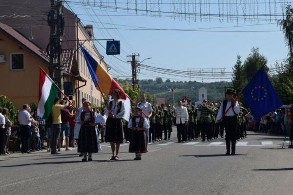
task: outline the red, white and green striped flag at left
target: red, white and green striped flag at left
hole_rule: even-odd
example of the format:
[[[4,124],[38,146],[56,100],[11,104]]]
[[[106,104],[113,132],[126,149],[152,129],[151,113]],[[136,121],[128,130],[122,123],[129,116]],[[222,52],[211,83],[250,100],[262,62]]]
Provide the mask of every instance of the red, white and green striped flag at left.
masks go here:
[[[40,68],[38,116],[47,119],[52,110],[59,88]]]

